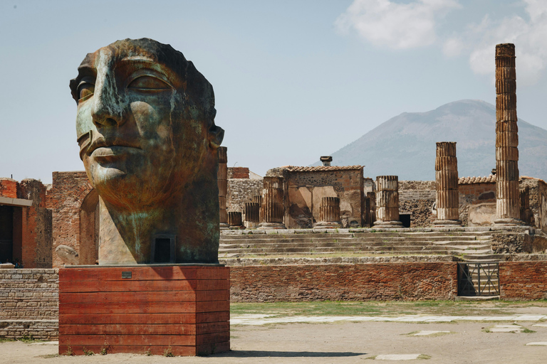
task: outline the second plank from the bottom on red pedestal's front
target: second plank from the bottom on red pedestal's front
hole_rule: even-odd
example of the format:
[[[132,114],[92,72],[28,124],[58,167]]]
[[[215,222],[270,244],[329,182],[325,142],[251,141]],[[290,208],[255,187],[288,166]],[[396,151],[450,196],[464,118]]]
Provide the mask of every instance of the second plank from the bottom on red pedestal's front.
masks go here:
[[[216,334],[207,334],[216,335]],[[207,339],[207,338],[204,338]],[[204,340],[202,339],[202,340]],[[69,346],[190,346],[196,344],[195,335],[61,335],[59,345]]]

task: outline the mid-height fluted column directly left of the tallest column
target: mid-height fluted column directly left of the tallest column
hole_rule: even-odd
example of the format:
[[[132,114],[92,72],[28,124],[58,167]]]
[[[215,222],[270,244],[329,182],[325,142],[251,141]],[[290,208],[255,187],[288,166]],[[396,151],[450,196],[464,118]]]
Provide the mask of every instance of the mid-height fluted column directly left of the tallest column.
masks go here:
[[[434,225],[461,225],[455,141],[437,143],[435,181],[437,182],[437,220],[434,221]]]

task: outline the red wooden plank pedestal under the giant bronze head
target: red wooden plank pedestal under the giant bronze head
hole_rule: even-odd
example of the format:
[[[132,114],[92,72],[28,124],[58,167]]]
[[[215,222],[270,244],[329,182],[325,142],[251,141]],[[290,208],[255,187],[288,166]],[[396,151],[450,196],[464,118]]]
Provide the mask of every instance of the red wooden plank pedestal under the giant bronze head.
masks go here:
[[[229,289],[220,266],[59,269],[59,353],[228,351]]]

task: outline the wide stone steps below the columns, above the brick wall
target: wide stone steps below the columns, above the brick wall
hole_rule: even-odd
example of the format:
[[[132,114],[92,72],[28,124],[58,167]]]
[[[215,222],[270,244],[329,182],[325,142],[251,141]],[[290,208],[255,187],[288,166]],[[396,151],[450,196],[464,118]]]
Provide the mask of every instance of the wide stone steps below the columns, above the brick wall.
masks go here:
[[[476,230],[229,230],[221,234],[219,258],[453,255],[464,261],[497,260],[491,231]]]

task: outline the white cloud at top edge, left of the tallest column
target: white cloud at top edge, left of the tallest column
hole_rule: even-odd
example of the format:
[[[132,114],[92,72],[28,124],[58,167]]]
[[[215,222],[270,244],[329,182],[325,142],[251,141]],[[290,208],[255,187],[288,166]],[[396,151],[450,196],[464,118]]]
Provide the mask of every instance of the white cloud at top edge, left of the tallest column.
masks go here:
[[[390,0],[355,0],[335,21],[340,31],[355,30],[366,41],[392,49],[424,47],[436,41],[436,21],[455,0],[418,0],[396,4]]]

